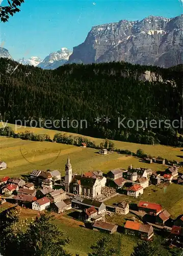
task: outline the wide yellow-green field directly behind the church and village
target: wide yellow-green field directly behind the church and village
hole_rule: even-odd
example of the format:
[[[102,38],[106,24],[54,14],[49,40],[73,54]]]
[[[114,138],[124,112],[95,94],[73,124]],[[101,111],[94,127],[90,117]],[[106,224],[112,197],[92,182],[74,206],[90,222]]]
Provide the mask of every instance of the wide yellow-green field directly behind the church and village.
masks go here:
[[[119,142],[123,143],[123,142]],[[132,146],[133,143],[128,143]],[[102,170],[104,173],[115,168],[150,167],[153,170],[165,170],[161,164],[148,164],[137,157],[113,153],[107,156],[97,154],[92,148],[54,142],[25,141],[21,139],[0,137],[1,159],[8,168],[1,170],[0,176],[20,176],[33,169],[58,169],[64,175],[65,163],[69,155],[73,173],[81,174],[89,170]],[[153,146],[152,146],[153,147]],[[169,147],[167,147],[169,148]],[[178,149],[180,151],[180,149]],[[180,153],[179,153],[180,154]]]

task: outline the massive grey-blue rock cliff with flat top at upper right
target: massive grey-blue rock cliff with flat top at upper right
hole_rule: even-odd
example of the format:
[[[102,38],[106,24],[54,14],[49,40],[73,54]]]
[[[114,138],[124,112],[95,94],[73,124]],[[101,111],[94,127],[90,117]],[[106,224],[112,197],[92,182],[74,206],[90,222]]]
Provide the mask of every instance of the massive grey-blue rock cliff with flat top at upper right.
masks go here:
[[[83,44],[74,47],[68,63],[125,61],[171,67],[183,63],[183,15],[149,16],[141,21],[95,26]]]

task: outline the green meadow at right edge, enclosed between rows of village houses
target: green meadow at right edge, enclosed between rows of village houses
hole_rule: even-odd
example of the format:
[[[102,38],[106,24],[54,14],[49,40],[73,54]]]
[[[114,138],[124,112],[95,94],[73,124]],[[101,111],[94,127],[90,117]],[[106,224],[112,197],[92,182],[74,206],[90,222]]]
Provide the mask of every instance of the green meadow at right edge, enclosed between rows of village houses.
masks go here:
[[[140,200],[161,204],[166,208],[172,218],[178,217],[182,214],[183,208],[183,186],[177,184],[170,184],[167,187],[161,188],[159,186],[151,185],[144,189],[144,194],[140,198],[128,197],[126,195],[118,195],[105,202],[106,205],[121,202],[122,200],[129,203],[138,203]]]

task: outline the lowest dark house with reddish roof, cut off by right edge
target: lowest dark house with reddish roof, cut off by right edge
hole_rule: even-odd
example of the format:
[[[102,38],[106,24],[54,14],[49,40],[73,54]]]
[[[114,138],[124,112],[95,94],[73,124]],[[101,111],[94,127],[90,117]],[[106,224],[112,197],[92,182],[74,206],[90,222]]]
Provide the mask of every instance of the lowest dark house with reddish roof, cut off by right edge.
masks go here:
[[[173,226],[170,233],[170,241],[172,245],[182,247],[183,245],[183,228]]]

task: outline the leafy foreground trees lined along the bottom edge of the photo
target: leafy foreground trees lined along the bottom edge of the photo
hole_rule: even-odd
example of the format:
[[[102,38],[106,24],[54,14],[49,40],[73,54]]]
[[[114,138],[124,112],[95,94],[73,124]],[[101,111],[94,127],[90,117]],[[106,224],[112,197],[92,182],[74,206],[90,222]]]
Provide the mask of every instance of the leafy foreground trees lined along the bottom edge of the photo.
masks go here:
[[[65,233],[54,224],[54,216],[49,212],[40,213],[31,221],[20,218],[21,208],[17,206],[0,213],[0,253],[3,256],[74,256],[67,252],[65,246],[71,241]],[[88,256],[116,256],[118,250],[110,236],[98,239]],[[154,239],[153,242],[141,241],[134,246],[130,256],[180,256],[181,249],[170,249],[165,240]],[[75,256],[80,256],[75,254]]]

